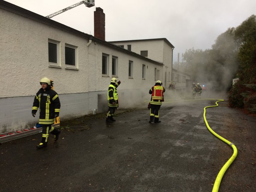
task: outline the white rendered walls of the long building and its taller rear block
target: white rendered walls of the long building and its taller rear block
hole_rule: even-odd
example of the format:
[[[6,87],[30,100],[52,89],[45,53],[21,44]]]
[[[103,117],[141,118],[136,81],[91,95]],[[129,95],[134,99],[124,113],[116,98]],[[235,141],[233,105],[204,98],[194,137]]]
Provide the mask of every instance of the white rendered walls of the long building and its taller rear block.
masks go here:
[[[107,111],[112,77],[122,82],[121,108],[147,105],[155,81],[170,79],[174,47],[167,39],[140,42],[154,44],[150,55],[159,46],[146,58],[6,1],[0,3],[0,20],[0,133],[38,121],[39,112],[34,118],[31,110],[43,77],[54,81],[62,120]]]

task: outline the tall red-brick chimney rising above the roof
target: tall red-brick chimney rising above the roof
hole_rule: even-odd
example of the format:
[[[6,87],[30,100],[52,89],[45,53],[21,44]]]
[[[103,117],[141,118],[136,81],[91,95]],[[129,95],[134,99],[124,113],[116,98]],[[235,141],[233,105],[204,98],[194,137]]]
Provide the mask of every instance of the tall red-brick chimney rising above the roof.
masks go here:
[[[94,11],[94,37],[105,41],[105,13],[100,7]]]

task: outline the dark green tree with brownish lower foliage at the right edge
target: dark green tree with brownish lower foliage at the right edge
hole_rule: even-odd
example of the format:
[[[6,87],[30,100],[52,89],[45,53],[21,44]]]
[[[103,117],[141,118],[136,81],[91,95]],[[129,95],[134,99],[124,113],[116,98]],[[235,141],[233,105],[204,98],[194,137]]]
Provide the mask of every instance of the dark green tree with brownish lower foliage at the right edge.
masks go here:
[[[239,81],[230,90],[229,104],[256,113],[256,16],[252,15],[235,30],[240,44]],[[241,102],[242,101],[242,102]]]

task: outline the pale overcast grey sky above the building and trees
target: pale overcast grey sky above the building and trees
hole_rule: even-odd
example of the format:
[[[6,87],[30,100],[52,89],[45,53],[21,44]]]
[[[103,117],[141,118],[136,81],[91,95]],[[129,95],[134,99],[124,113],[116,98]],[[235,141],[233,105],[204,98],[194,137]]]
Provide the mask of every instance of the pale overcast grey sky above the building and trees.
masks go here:
[[[81,0],[6,0],[47,16]],[[94,11],[101,7],[106,19],[106,41],[166,38],[177,54],[186,49],[208,49],[229,27],[256,14],[256,0],[95,0],[52,18],[94,35]]]

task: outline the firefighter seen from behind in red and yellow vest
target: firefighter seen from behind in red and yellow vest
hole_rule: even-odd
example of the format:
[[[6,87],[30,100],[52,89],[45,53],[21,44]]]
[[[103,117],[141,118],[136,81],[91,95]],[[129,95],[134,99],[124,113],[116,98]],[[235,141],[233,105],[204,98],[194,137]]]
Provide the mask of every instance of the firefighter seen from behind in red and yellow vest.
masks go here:
[[[165,88],[162,86],[161,81],[156,81],[155,86],[151,87],[149,94],[151,94],[150,100],[150,120],[149,123],[155,122],[160,123],[159,121],[159,111],[164,101],[164,92]]]

